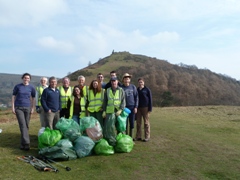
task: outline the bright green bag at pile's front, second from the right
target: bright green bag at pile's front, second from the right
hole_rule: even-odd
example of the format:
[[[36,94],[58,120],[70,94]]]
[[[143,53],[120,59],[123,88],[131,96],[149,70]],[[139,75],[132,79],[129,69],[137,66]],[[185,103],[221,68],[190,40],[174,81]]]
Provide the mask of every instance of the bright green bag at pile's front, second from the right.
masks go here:
[[[94,147],[94,152],[97,155],[111,155],[114,154],[114,148],[108,144],[106,139],[100,139]]]

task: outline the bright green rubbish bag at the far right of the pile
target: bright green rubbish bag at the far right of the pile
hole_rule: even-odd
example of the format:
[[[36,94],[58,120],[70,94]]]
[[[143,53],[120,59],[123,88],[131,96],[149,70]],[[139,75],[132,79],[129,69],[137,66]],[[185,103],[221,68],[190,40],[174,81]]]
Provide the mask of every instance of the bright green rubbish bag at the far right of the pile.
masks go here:
[[[132,137],[126,134],[119,133],[116,137],[117,143],[115,146],[115,152],[126,153],[131,152],[134,146]]]

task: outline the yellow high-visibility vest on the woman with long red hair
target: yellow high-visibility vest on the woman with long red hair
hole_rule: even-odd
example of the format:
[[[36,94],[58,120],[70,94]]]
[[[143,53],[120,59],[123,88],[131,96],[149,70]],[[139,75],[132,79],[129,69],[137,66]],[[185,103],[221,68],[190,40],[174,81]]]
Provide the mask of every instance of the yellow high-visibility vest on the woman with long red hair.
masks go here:
[[[88,90],[88,111],[89,112],[98,112],[102,108],[104,99],[104,89],[101,92],[96,93],[94,96],[93,90]]]

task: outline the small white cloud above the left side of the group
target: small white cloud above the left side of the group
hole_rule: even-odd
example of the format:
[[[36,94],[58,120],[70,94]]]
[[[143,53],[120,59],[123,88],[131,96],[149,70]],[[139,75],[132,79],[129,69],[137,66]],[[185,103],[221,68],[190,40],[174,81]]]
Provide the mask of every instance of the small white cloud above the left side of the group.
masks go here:
[[[58,41],[51,36],[42,37],[38,39],[37,43],[49,50],[56,50],[61,53],[72,53],[74,52],[74,45],[69,42]]]

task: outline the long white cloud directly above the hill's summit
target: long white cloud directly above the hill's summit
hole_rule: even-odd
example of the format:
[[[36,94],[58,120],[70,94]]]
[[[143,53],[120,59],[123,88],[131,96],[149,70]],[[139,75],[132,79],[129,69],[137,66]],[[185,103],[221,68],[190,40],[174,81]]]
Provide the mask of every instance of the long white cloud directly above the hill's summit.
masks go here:
[[[79,49],[83,53],[90,54],[94,49],[94,54],[108,54],[112,49],[136,51],[147,46],[169,46],[178,42],[180,35],[176,32],[158,32],[152,35],[145,35],[139,29],[131,32],[124,32],[105,24],[97,27],[85,27],[77,35]]]

